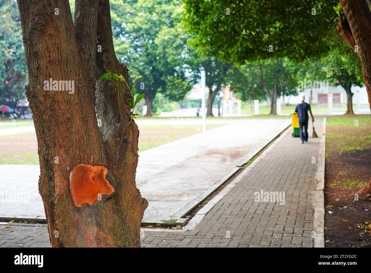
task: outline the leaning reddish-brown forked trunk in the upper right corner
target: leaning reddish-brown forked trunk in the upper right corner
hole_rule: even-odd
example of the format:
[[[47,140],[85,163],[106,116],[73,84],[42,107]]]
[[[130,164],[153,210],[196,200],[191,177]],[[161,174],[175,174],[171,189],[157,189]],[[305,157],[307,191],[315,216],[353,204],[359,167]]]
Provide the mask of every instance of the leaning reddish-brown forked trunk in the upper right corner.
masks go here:
[[[353,50],[358,48],[356,53],[361,58],[371,109],[371,12],[365,0],[340,0],[340,3],[347,20],[340,20],[336,29]]]

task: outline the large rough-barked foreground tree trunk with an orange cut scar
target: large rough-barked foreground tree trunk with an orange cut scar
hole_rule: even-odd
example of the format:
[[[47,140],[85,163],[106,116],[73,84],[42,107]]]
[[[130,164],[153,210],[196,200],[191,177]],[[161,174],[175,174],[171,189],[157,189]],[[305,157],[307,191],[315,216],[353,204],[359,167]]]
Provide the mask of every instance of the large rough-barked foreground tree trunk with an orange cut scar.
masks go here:
[[[118,104],[113,83],[97,81],[107,70],[128,81],[113,48],[109,1],[77,0],[75,22],[68,1],[17,2],[39,147],[39,192],[52,247],[139,247],[148,203],[135,186],[138,127],[128,124],[129,110]],[[73,92],[46,91],[50,78],[70,81]],[[123,82],[120,96],[131,97]],[[114,193],[76,207],[70,172],[80,164],[105,166]]]

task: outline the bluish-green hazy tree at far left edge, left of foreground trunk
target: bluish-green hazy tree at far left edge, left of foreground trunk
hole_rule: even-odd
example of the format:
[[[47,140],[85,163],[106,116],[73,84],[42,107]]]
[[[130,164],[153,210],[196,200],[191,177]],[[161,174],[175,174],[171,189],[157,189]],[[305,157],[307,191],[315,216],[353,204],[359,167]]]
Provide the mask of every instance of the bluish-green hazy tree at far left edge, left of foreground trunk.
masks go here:
[[[25,98],[27,64],[17,3],[0,3],[0,105],[15,108]]]

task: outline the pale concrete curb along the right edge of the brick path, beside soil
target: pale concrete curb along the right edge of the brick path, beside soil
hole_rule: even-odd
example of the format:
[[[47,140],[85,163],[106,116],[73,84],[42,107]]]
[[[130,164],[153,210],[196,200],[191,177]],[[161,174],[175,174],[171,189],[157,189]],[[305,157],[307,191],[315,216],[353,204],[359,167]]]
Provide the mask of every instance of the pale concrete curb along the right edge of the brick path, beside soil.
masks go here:
[[[323,120],[324,134],[319,144],[318,169],[316,173],[316,190],[313,199],[314,217],[313,247],[325,247],[325,149],[326,149],[326,117]]]

